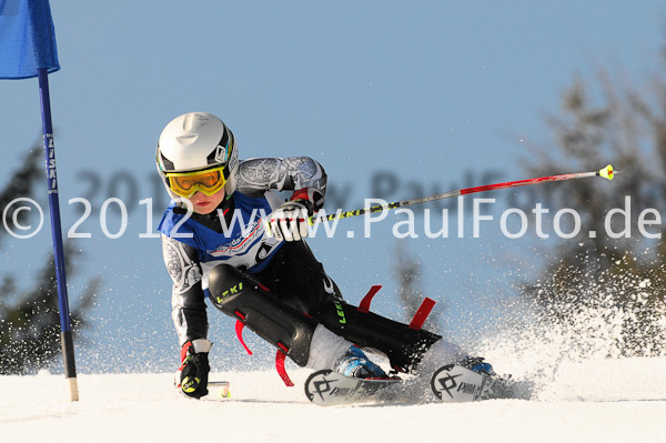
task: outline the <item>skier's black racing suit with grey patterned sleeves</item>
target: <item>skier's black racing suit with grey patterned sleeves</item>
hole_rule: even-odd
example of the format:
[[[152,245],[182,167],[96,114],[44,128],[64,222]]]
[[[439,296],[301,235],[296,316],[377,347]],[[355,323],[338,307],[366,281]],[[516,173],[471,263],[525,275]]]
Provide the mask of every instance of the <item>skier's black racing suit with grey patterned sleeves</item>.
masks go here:
[[[236,192],[262,197],[270,190],[315,188],[324,194],[325,185],[326,174],[312,159],[255,159],[241,162]],[[229,225],[234,212],[233,199],[228,197],[220,209],[228,219],[224,225]],[[193,214],[192,220],[222,232],[219,213],[213,211],[204,215]],[[195,339],[206,339],[204,288],[208,289],[208,275],[206,266],[202,266],[199,261],[200,251],[167,235],[162,235],[162,242],[164,261],[174,282],[172,316],[179,340],[183,344]],[[342,301],[340,289],[326,275],[323,265],[304,241],[284,242],[274,252],[269,264],[259,272],[252,272],[252,268],[248,269],[246,265],[236,268],[242,272],[249,271],[252,281],[265,286],[269,290],[265,296],[271,296],[287,306],[287,316],[293,315],[295,319],[304,314],[310,319],[310,324],[321,323],[353,343],[377,349],[390,358],[394,368],[402,371],[411,371],[427,348],[440,339],[438,335],[415,331],[373,313],[359,312],[355,306]],[[215,294],[211,295],[214,299]],[[339,321],[341,311],[345,315],[344,323]],[[230,312],[226,313],[231,315]],[[309,343],[305,350],[307,348]],[[304,365],[307,352],[304,354],[301,353],[300,358],[291,354],[290,356]]]

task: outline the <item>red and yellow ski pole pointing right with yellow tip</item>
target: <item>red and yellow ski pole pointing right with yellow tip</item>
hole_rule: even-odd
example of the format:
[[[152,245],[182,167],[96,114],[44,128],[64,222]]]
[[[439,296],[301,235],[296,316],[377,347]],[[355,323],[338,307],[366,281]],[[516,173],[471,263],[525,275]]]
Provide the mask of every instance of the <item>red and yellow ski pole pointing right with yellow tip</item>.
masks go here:
[[[350,217],[356,217],[356,215],[363,215],[366,213],[386,211],[390,209],[410,207],[412,204],[427,203],[427,202],[435,201],[435,200],[450,199],[452,197],[473,194],[476,192],[494,191],[494,190],[506,189],[506,188],[526,187],[528,184],[537,184],[537,183],[544,183],[544,182],[549,182],[549,181],[585,179],[588,177],[602,177],[607,180],[613,180],[615,174],[620,173],[620,172],[622,171],[614,171],[613,165],[608,164],[607,167],[602,168],[598,171],[592,171],[592,172],[575,172],[575,173],[569,173],[569,174],[538,177],[535,179],[507,181],[507,182],[503,182],[503,183],[484,184],[482,187],[464,188],[464,189],[458,189],[456,191],[442,192],[440,194],[434,194],[434,195],[428,195],[428,197],[420,197],[416,199],[410,199],[410,200],[403,200],[403,201],[396,201],[396,202],[387,203],[387,204],[377,204],[376,207],[356,209],[353,211],[342,212],[339,210],[334,214],[313,215],[310,218],[310,224],[314,224],[316,222],[323,222],[323,221],[333,221],[333,220],[337,220],[337,219],[349,219]]]

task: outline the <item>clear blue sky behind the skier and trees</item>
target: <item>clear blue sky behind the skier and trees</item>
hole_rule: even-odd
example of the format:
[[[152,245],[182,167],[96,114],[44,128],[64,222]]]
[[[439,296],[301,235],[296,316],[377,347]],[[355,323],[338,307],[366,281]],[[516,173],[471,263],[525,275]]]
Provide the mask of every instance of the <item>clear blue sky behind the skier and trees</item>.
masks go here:
[[[69,279],[72,304],[87,275],[103,278],[80,365],[125,365],[128,346],[147,366],[168,370],[178,359],[160,244],[138,236],[159,221],[159,211],[147,213],[139,201],[165,202],[154,145],[175,115],[215,113],[234,131],[241,158],[314,158],[342,209],[360,208],[382,171],[397,178],[391,201],[482,184],[484,174],[523,179],[522,140],[548,140],[543,117],[557,111],[574,75],[592,79],[605,67],[640,83],[658,68],[666,9],[627,4],[52,2],[62,67],[50,82],[63,233],[79,217],[69,199],[93,204],[79,226],[91,238],[78,241],[88,259]],[[7,177],[40,133],[37,80],[0,82],[0,103]],[[561,172],[569,171],[553,167]],[[117,240],[100,228],[109,197],[130,211]],[[391,271],[396,221],[390,215],[362,239],[362,221],[347,220],[342,235],[310,242],[351,302],[384,284],[374,306],[391,316],[403,314]],[[118,230],[118,213],[107,222]],[[31,240],[3,236],[2,269],[23,273],[20,284],[29,286],[43,265],[48,225]],[[454,338],[492,323],[497,299],[515,296],[512,281],[534,272],[533,242],[509,241],[496,228],[482,239],[422,238],[406,246],[422,262],[424,295],[441,302],[445,320],[433,328]],[[235,355],[233,322],[209,313],[218,353]]]

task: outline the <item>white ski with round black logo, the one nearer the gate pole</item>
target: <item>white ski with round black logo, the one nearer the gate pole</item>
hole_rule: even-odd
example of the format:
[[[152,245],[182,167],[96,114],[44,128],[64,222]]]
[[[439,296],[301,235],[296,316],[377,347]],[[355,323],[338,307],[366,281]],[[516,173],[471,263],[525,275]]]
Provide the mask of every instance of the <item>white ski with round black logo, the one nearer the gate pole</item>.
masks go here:
[[[353,379],[331,370],[313,372],[305,381],[307,400],[320,406],[400,402],[402,380]]]

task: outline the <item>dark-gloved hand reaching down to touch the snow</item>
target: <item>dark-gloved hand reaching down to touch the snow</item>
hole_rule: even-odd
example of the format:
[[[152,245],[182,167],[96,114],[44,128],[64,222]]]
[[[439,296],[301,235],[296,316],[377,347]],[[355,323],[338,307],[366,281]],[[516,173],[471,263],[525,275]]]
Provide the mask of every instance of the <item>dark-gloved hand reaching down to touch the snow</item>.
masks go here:
[[[208,394],[208,374],[211,370],[208,353],[212,343],[196,339],[183,344],[181,366],[176,372],[176,387],[186,396],[201,399]]]

